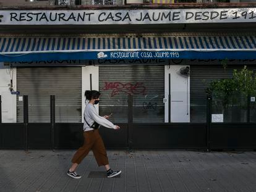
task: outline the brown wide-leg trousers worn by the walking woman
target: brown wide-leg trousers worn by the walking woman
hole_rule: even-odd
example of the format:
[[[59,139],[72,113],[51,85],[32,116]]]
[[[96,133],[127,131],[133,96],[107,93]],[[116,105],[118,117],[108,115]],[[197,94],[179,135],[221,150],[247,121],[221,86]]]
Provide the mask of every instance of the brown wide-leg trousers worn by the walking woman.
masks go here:
[[[92,149],[93,155],[99,165],[108,165],[108,156],[104,143],[101,139],[98,129],[83,132],[84,142],[83,146],[75,152],[72,163],[80,164]]]

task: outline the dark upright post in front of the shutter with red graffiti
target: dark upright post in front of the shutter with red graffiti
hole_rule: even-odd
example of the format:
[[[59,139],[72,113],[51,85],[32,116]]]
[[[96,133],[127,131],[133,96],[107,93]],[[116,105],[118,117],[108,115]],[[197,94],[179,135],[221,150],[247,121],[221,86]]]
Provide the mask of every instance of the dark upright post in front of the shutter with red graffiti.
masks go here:
[[[128,147],[132,148],[133,96],[128,95]]]

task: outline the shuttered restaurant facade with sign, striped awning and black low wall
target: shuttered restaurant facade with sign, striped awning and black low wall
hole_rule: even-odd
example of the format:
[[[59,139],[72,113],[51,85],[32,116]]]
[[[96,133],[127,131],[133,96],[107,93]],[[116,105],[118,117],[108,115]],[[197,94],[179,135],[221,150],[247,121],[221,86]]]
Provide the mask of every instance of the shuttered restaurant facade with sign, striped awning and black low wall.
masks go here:
[[[1,8],[0,148],[79,147],[99,90],[108,148],[256,149],[255,96],[223,113],[206,93],[256,70],[256,8],[184,7]]]

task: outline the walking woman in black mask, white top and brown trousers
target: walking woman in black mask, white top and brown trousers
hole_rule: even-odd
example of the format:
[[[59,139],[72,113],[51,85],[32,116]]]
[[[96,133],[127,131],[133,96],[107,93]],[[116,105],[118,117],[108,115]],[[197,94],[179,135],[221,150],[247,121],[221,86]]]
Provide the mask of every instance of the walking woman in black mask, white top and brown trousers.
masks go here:
[[[87,156],[90,149],[92,149],[98,166],[100,167],[103,165],[105,167],[107,177],[115,177],[121,173],[121,170],[113,171],[110,169],[106,149],[99,134],[98,127],[99,125],[103,125],[104,127],[113,128],[115,130],[118,130],[120,127],[109,122],[109,120],[107,120],[109,116],[105,115],[104,117],[101,117],[96,112],[94,105],[98,104],[100,101],[99,91],[85,91],[85,97],[87,104],[83,114],[84,142],[83,146],[75,152],[72,159],[72,166],[67,171],[67,175],[72,178],[81,178],[80,175],[77,175],[75,170],[80,162],[82,162],[82,160]]]

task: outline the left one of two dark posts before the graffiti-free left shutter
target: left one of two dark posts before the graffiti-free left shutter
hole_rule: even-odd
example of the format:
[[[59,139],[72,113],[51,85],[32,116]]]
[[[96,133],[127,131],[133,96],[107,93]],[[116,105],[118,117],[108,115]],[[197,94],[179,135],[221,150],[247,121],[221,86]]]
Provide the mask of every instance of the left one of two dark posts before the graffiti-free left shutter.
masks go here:
[[[28,96],[23,95],[23,125],[25,135],[25,151],[28,151]]]

